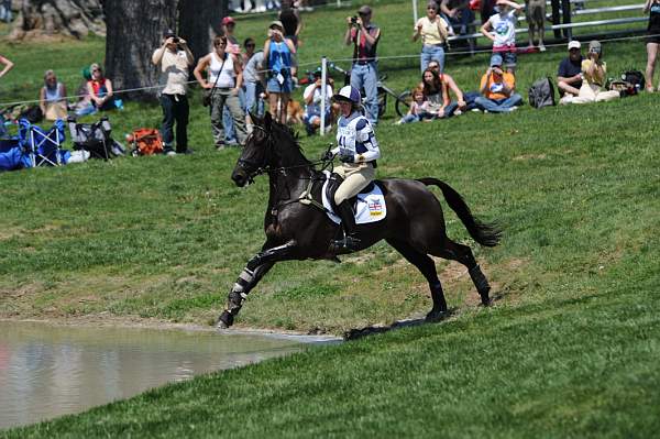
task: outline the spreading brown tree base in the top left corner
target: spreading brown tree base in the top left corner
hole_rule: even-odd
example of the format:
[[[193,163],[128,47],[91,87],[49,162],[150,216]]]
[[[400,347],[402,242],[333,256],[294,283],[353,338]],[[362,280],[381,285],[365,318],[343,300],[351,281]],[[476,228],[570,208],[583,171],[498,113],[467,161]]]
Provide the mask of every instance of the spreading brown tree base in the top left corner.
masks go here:
[[[103,36],[102,0],[22,0],[10,40],[44,36]]]

